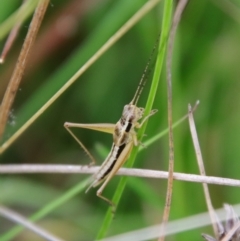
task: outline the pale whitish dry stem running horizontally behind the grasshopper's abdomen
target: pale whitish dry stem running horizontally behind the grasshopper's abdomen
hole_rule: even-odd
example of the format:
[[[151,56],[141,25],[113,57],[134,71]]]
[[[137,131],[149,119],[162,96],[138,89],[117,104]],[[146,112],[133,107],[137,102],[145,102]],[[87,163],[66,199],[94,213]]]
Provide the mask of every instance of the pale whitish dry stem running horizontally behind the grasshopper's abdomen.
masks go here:
[[[22,165],[0,165],[1,174],[34,174],[34,173],[58,173],[58,174],[92,174],[97,172],[99,166],[89,167],[88,165],[44,165],[44,164],[22,164]],[[137,168],[121,168],[117,175],[120,176],[133,176],[133,177],[143,177],[143,178],[168,178],[168,172],[165,171],[155,171],[147,169],[137,169]],[[213,177],[213,176],[201,176],[195,174],[186,173],[173,173],[174,180],[186,181],[186,182],[196,182],[196,183],[208,183],[215,185],[224,186],[234,186],[240,187],[240,180]]]

